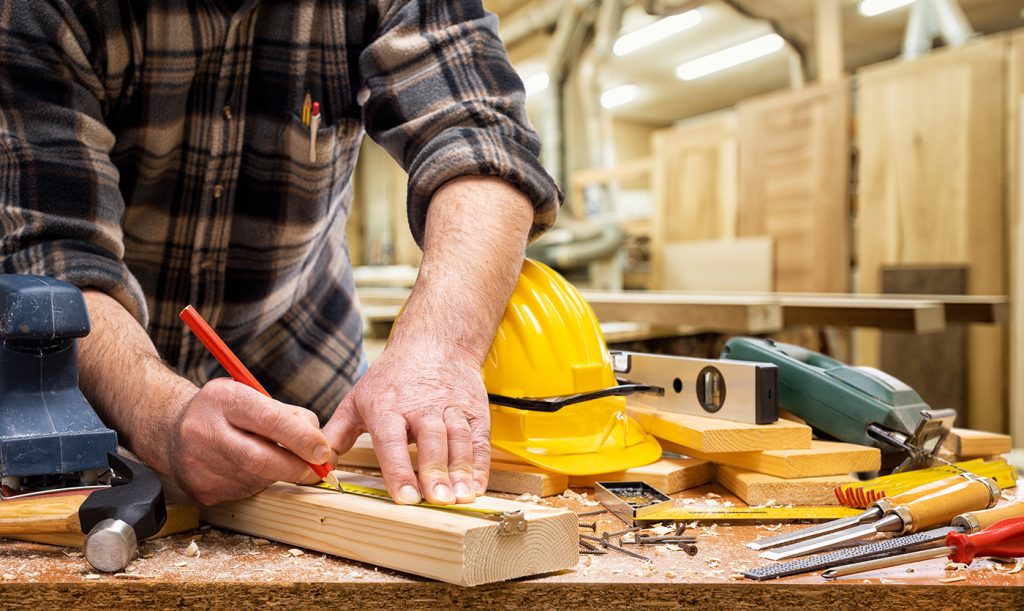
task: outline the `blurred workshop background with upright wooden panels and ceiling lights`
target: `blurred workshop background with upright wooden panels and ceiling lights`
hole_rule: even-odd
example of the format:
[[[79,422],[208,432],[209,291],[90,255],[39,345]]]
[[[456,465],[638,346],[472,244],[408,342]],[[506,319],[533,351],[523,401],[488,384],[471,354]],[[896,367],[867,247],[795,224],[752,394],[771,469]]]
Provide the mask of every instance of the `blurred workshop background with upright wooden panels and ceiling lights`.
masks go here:
[[[1024,2],[484,4],[565,191],[531,257],[581,288],[711,301],[1005,297],[996,321],[941,332],[829,319],[772,335],[879,366],[956,408],[957,426],[1024,443]],[[389,318],[372,288],[415,278],[404,200],[403,173],[366,142],[348,238],[371,331]],[[612,345],[676,337],[708,356],[699,334],[750,331],[602,322]]]

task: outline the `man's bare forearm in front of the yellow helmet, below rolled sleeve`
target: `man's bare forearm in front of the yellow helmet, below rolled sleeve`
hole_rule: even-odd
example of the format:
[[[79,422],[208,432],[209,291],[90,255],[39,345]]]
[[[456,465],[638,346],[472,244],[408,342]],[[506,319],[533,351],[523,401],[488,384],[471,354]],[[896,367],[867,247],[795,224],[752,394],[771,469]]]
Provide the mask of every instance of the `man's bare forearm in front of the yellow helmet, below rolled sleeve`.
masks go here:
[[[482,364],[522,266],[529,200],[499,178],[453,180],[427,211],[420,275],[392,341],[433,339]]]

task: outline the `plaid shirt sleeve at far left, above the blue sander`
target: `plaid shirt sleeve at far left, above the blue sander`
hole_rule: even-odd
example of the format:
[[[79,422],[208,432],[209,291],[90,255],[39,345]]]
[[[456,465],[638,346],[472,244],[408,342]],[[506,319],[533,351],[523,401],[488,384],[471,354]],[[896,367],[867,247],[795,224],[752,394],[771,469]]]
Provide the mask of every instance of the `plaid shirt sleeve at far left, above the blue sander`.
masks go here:
[[[0,271],[98,289],[145,325],[145,298],[122,260],[95,25],[65,2],[0,11]]]

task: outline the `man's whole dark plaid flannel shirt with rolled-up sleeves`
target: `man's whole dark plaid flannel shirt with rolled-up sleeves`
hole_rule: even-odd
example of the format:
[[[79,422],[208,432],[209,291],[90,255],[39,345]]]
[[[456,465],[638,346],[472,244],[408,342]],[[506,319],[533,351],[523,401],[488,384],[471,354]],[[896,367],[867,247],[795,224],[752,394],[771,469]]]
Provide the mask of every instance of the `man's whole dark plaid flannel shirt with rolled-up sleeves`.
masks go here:
[[[0,271],[109,293],[203,384],[222,374],[177,318],[191,303],[274,396],[326,418],[362,358],[344,227],[364,127],[410,175],[417,241],[433,192],[469,174],[526,193],[535,234],[554,221],[479,0],[0,3]]]

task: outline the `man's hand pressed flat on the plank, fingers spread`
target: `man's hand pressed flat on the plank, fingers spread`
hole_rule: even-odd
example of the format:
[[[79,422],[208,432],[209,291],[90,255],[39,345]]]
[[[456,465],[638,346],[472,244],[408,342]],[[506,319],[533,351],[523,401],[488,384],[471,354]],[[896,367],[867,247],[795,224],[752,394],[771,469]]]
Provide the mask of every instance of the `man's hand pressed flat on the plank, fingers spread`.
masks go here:
[[[388,493],[472,503],[487,489],[490,468],[487,394],[475,357],[442,345],[392,343],[324,428],[334,450],[348,451],[369,431]],[[409,444],[419,451],[419,480]]]

